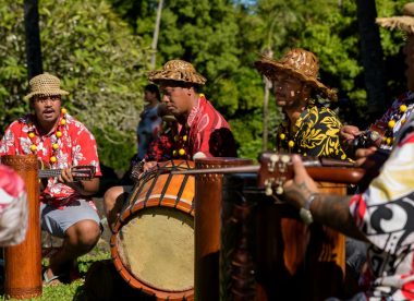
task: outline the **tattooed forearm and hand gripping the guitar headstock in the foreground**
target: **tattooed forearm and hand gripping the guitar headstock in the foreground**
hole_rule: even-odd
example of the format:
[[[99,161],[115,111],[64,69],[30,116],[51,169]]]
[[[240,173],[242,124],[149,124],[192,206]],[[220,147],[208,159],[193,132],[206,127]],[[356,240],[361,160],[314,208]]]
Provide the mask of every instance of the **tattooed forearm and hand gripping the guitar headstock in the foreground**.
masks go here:
[[[305,207],[310,194],[317,193],[315,181],[307,174],[299,156],[292,157],[294,179],[284,184],[285,200],[297,208]],[[356,227],[350,213],[350,196],[317,194],[312,203],[310,212],[315,220],[348,237],[366,241],[365,236]]]

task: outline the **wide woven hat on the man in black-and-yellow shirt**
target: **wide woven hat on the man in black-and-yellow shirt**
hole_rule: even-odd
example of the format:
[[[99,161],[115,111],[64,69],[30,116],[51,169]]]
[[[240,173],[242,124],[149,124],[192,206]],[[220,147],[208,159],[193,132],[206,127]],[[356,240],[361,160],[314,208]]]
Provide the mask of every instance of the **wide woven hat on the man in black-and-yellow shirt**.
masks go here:
[[[289,50],[279,61],[261,56],[260,60],[255,62],[255,67],[270,81],[272,81],[276,75],[285,73],[313,86],[317,92],[329,99],[337,100],[336,91],[328,88],[317,80],[319,61],[316,56],[309,51],[294,48]]]

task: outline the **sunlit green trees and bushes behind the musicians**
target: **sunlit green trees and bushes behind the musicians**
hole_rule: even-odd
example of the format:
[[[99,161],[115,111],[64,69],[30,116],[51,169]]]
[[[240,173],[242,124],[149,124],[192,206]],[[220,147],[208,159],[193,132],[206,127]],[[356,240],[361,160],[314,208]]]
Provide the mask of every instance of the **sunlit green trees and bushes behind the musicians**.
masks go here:
[[[407,1],[378,0],[378,15]],[[135,127],[149,70],[157,0],[40,0],[44,70],[71,92],[64,106],[96,135],[101,161],[124,170],[135,152]],[[403,36],[381,29],[387,99],[404,91]],[[26,111],[23,0],[0,4],[0,132]],[[276,58],[304,47],[320,59],[324,83],[339,89],[345,122],[366,124],[366,92],[356,3],[352,0],[165,1],[157,68],[181,58],[207,79],[205,93],[230,121],[239,155],[261,149],[264,84],[258,53]],[[343,108],[343,109],[341,109]],[[280,113],[270,100],[270,129]],[[272,139],[268,147],[271,148]]]

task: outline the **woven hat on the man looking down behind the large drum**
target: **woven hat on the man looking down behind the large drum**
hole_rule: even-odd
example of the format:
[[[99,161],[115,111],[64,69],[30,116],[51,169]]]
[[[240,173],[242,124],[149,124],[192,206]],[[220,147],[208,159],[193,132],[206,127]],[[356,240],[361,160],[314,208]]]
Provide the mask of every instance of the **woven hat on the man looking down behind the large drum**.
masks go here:
[[[195,68],[182,60],[168,61],[162,70],[148,72],[148,80],[154,83],[160,81],[175,81],[184,83],[193,83],[197,85],[204,85],[207,80],[195,71]]]

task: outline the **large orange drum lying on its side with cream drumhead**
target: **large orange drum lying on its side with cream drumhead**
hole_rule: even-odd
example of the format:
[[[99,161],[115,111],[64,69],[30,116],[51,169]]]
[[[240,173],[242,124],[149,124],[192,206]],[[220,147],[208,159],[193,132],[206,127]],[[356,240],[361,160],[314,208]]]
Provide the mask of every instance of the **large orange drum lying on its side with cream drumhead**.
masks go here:
[[[193,167],[175,160],[144,173],[111,237],[117,270],[158,300],[193,299],[194,177],[171,173]]]

